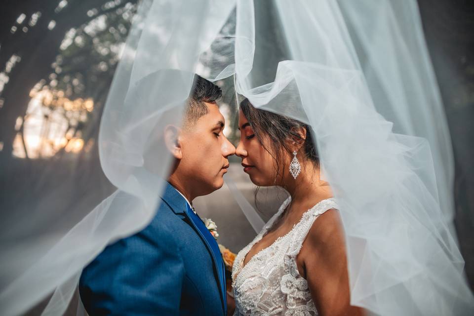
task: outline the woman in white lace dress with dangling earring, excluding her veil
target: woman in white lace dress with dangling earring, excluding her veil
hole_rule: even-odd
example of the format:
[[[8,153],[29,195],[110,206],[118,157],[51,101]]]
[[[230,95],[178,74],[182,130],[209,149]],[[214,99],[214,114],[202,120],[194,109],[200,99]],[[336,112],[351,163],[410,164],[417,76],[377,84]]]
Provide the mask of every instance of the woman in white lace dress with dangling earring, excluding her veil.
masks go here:
[[[290,197],[236,257],[235,315],[362,315],[350,305],[343,227],[319,177],[311,127],[248,99],[238,126],[244,172],[255,185],[283,187]]]

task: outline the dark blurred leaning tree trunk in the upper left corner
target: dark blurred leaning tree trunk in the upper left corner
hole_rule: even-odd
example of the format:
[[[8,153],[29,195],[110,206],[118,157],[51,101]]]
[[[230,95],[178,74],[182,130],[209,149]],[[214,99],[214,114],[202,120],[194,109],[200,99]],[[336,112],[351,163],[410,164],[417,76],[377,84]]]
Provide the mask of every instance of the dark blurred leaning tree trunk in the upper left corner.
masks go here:
[[[16,118],[26,113],[30,101],[30,90],[41,79],[46,79],[51,73],[51,64],[55,61],[66,32],[78,28],[103,14],[117,11],[127,3],[137,0],[113,2],[97,0],[69,0],[67,5],[57,12],[58,1],[18,1],[5,0],[0,13],[2,25],[0,28],[0,70],[12,55],[19,56],[18,62],[8,74],[9,81],[5,84],[0,97],[3,107],[0,108],[0,142],[3,150],[0,152],[0,162],[4,167],[11,159],[13,140],[16,135],[14,123]],[[117,4],[118,3],[118,4]],[[93,10],[93,11],[91,11]],[[28,25],[31,15],[40,12],[41,16],[36,25]],[[89,14],[88,14],[89,12]],[[92,14],[90,14],[92,12]],[[21,24],[16,22],[20,14],[26,18]],[[50,21],[55,21],[54,28],[48,28]],[[16,32],[11,27],[16,26]],[[27,32],[22,30],[27,27]]]

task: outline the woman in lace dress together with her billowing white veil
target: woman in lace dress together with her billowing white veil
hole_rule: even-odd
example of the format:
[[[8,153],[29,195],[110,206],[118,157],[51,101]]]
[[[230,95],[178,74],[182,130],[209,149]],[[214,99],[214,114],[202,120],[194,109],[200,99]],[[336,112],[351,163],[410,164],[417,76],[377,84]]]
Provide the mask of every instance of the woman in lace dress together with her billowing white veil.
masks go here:
[[[416,0],[142,0],[133,21],[91,128],[94,163],[117,190],[76,164],[80,198],[55,203],[45,188],[40,209],[4,212],[2,315],[48,297],[43,314],[63,315],[82,269],[150,223],[173,159],[149,140],[181,123],[194,73],[248,98],[244,171],[291,196],[264,225],[226,179],[260,232],[237,256],[237,315],[472,315],[450,230],[450,136]],[[169,69],[182,75],[160,72],[136,93]]]

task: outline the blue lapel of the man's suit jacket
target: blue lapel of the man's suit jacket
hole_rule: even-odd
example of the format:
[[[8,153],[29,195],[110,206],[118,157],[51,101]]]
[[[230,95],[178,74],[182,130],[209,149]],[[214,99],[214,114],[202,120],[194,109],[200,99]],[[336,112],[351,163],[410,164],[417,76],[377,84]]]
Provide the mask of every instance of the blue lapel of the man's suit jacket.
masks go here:
[[[214,268],[215,268],[215,274],[217,275],[217,285],[220,289],[221,292],[221,302],[224,308],[224,311],[227,311],[227,297],[226,297],[226,289],[225,289],[225,275],[223,274],[224,272],[224,267],[223,267],[223,261],[222,259],[219,261],[218,258],[216,258],[216,255],[214,254],[214,251],[212,250],[211,245],[209,244],[209,241],[204,237],[203,233],[201,230],[197,227],[195,221],[191,218],[192,215],[195,215],[197,217],[197,220],[200,221],[199,217],[196,214],[190,214],[189,212],[192,212],[191,209],[188,207],[188,202],[184,197],[182,197],[179,192],[168,182],[165,182],[165,190],[164,193],[161,197],[161,199],[169,205],[171,210],[181,217],[182,219],[187,219],[186,222],[188,222],[193,229],[196,231],[197,235],[201,238],[202,242],[207,248],[207,251],[209,252],[209,255],[212,258],[212,262],[214,263]],[[189,211],[188,211],[189,209]],[[202,223],[202,226],[204,226],[204,223]],[[205,228],[205,226],[204,226]],[[202,229],[202,227],[201,227]],[[221,276],[223,275],[223,276]]]

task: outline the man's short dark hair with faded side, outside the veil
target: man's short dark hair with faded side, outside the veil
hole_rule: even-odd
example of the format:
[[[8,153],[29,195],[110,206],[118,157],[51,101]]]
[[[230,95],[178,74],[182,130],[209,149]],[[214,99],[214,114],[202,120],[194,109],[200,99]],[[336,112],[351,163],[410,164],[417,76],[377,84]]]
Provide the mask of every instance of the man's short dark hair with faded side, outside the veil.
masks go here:
[[[193,89],[186,102],[184,122],[194,124],[200,117],[209,113],[204,102],[214,103],[222,96],[221,88],[198,75],[194,75]]]

